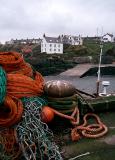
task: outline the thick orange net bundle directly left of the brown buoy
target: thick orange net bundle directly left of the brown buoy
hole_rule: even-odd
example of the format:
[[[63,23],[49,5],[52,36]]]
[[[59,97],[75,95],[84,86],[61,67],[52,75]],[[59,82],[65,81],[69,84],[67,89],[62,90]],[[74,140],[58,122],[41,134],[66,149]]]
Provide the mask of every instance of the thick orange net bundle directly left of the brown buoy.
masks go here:
[[[7,74],[7,94],[17,98],[43,94],[44,79],[35,72],[35,79],[22,74]]]

